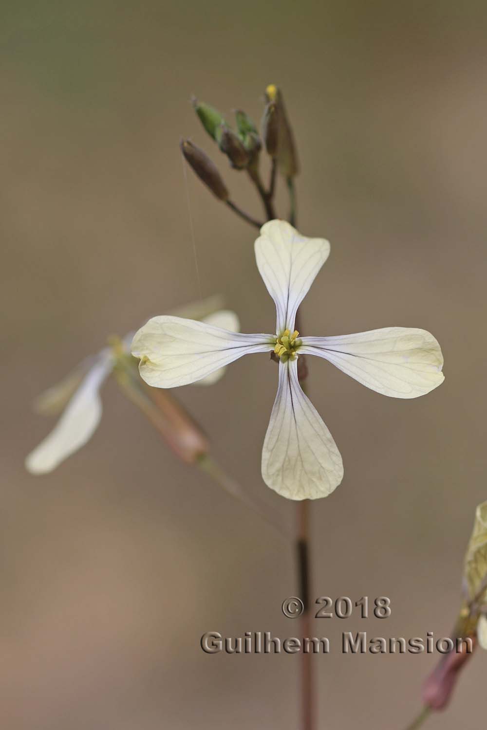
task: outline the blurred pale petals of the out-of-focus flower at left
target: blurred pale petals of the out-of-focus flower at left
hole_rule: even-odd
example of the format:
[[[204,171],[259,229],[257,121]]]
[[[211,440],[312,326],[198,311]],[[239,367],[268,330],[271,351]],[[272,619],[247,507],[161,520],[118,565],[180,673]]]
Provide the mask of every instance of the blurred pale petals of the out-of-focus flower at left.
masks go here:
[[[213,311],[221,304],[220,297],[189,304],[178,311],[182,317],[201,317],[209,326],[223,327],[234,331],[239,320],[229,310]],[[123,338],[121,345],[127,355],[133,333]],[[112,372],[117,357],[110,347],[105,347],[96,356],[85,358],[61,383],[42,393],[34,403],[37,412],[53,415],[64,409],[53,431],[26,458],[26,469],[31,474],[47,474],[61,464],[68,456],[80,449],[93,436],[100,422],[102,406],[99,391]],[[224,369],[212,372],[200,381],[203,385],[215,383]]]

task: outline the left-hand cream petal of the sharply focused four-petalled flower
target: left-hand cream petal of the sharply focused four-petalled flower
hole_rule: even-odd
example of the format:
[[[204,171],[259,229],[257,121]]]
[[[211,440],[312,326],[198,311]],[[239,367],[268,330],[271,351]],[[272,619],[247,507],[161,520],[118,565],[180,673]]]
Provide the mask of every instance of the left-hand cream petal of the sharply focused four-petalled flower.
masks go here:
[[[274,350],[270,334],[240,334],[179,317],[153,317],[135,333],[131,353],[148,385],[195,383],[249,353]]]

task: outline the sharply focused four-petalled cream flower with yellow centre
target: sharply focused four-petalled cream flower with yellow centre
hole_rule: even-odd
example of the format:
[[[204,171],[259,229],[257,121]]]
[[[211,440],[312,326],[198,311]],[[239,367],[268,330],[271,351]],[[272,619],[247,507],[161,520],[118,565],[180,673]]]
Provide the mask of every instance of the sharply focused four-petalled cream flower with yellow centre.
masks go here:
[[[140,358],[146,383],[174,388],[207,377],[243,355],[274,350],[280,358],[279,383],[262,451],[262,477],[289,499],[316,499],[342,481],[342,457],[299,385],[299,354],[325,358],[378,393],[415,398],[442,383],[442,353],[436,339],[422,329],[299,337],[296,311],[328,258],[329,242],[306,238],[289,223],[271,220],[262,226],[255,250],[258,270],[275,301],[276,334],[239,334],[163,315],[137,331],[131,352]]]

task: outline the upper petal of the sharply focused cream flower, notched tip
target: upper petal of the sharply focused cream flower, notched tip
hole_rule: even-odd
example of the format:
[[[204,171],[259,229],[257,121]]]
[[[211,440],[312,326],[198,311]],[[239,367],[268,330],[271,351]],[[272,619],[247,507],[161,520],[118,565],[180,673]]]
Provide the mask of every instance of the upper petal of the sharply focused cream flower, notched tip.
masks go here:
[[[294,330],[299,304],[330,253],[323,238],[306,238],[285,220],[270,220],[256,240],[258,271],[275,301],[277,334]]]

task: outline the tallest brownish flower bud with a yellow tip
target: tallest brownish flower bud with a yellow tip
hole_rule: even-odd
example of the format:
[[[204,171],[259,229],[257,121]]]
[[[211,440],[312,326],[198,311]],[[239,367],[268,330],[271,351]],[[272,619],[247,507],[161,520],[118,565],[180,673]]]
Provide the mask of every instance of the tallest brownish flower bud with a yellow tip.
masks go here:
[[[271,156],[277,158],[280,173],[286,178],[294,177],[299,172],[299,164],[293,132],[285,112],[283,95],[274,84],[270,84],[266,88],[266,101],[264,139],[269,140],[270,149],[273,152]],[[274,105],[274,110],[272,110],[272,105]],[[276,118],[273,120],[274,115]],[[275,128],[272,125],[275,125]]]

